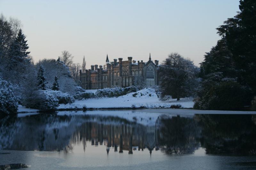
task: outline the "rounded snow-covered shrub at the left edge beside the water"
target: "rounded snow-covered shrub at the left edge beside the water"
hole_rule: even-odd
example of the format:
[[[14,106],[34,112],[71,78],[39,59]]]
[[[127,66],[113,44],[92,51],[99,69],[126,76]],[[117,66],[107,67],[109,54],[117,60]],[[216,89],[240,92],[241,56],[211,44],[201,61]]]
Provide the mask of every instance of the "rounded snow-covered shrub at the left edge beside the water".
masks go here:
[[[12,84],[0,78],[0,114],[17,114],[18,102]]]

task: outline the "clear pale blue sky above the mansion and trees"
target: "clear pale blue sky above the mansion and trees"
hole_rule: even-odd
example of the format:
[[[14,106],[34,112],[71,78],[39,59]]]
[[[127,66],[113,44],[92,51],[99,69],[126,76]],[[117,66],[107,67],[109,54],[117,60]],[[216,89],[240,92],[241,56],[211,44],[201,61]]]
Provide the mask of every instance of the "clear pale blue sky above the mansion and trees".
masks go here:
[[[35,61],[74,55],[92,64],[127,60],[161,63],[178,52],[198,65],[220,39],[218,26],[239,11],[239,0],[0,0],[0,12],[18,18]]]

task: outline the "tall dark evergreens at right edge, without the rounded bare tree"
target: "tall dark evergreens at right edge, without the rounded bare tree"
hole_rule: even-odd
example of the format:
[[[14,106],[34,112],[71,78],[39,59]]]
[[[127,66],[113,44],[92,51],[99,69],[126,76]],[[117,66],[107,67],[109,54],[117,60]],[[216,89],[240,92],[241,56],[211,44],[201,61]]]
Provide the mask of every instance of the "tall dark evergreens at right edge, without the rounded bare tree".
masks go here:
[[[240,0],[239,9],[217,28],[221,40],[204,56],[195,108],[243,109],[256,95],[256,1]]]

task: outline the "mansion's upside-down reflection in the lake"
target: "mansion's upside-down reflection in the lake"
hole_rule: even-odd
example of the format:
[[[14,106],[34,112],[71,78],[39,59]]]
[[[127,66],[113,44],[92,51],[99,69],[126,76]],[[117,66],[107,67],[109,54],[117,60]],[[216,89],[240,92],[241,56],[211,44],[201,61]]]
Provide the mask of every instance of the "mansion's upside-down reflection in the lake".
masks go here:
[[[134,150],[143,151],[145,148],[152,153],[154,148],[159,149],[158,133],[159,118],[154,126],[144,126],[137,123],[121,123],[121,124],[104,124],[98,122],[84,122],[79,129],[72,135],[71,144],[82,142],[84,152],[86,148],[86,140],[91,141],[91,145],[104,144],[106,151],[114,148],[114,152],[133,154]],[[80,141],[77,140],[80,138]]]

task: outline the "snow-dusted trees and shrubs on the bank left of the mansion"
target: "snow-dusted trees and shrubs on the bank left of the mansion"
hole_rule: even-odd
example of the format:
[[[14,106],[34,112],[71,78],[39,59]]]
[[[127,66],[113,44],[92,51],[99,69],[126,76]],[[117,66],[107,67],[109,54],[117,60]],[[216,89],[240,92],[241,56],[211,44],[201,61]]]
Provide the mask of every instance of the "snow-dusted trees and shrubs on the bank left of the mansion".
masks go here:
[[[81,91],[79,70],[73,56],[62,51],[60,57],[37,63],[29,55],[26,36],[18,19],[0,15],[0,114],[16,114],[18,104],[41,110],[54,110],[72,103]],[[57,57],[56,57],[57,58]]]

